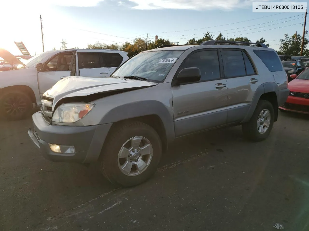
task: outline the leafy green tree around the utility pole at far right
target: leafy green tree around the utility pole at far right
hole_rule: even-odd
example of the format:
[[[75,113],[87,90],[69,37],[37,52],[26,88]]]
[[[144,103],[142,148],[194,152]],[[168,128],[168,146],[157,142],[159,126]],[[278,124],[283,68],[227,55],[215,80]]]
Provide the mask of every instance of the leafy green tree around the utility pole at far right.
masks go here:
[[[295,41],[296,37],[296,41]],[[292,56],[299,56],[301,47],[302,47],[302,36],[300,34],[293,34],[289,36],[288,34],[284,34],[284,39],[280,39],[281,45],[279,52],[281,54],[288,54]],[[303,55],[308,55],[309,50],[305,49],[308,44],[308,39],[304,40],[304,51]]]

